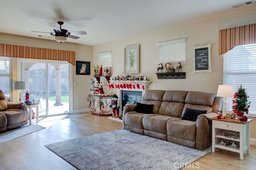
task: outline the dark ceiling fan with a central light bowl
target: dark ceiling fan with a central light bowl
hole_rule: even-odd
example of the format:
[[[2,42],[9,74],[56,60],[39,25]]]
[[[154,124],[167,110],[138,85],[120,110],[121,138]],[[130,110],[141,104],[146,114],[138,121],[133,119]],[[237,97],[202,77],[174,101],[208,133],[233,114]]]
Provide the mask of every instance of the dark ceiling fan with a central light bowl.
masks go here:
[[[54,33],[50,33],[50,32],[40,32],[40,31],[31,31],[31,32],[37,32],[37,33],[50,33],[52,35],[52,37],[55,37],[55,40],[58,41],[59,43],[63,43],[66,41],[67,37],[68,38],[72,38],[72,39],[78,39],[80,37],[74,36],[74,35],[85,35],[86,32],[85,31],[75,31],[75,32],[68,32],[68,30],[66,29],[61,29],[61,25],[64,24],[63,21],[58,21],[57,22],[60,27],[54,27],[53,31]],[[49,37],[49,38],[52,38]]]

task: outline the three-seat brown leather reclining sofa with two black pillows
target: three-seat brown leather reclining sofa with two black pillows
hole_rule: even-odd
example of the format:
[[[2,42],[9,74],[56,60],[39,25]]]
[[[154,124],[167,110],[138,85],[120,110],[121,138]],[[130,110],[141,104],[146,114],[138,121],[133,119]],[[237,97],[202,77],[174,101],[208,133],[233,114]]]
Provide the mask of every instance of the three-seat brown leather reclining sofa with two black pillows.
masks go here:
[[[124,106],[123,128],[188,147],[206,149],[211,145],[210,118],[217,116],[221,107],[222,98],[213,93],[148,90],[142,104]],[[200,114],[201,111],[204,113]],[[194,117],[193,120],[190,117]]]

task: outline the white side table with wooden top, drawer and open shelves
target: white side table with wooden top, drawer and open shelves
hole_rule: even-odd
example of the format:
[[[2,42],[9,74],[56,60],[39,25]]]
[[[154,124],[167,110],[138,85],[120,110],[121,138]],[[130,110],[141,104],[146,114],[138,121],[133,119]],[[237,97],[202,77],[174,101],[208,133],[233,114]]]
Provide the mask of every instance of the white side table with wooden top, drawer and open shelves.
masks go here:
[[[212,152],[215,148],[221,148],[240,153],[240,159],[244,160],[244,152],[250,154],[250,122],[247,121],[230,121],[227,119],[212,118]],[[223,133],[219,135],[218,133]],[[233,134],[237,134],[238,138],[234,138]],[[221,140],[231,141],[237,145],[220,145]]]

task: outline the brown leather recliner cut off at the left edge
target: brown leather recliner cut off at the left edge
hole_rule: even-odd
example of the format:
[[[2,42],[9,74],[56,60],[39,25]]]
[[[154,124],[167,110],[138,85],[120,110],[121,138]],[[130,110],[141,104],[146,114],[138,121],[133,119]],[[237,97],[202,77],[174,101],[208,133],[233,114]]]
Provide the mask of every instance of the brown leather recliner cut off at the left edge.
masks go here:
[[[0,133],[28,124],[28,108],[24,103],[8,103],[0,90]]]

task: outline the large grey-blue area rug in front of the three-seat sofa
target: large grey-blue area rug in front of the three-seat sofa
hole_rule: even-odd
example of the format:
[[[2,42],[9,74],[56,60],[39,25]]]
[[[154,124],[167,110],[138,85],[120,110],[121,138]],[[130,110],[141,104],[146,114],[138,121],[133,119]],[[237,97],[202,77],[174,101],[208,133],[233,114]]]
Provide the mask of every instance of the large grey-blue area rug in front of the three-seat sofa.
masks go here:
[[[177,170],[211,152],[124,129],[45,147],[78,170]]]

